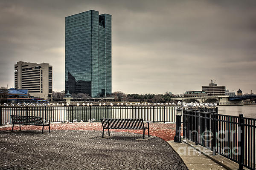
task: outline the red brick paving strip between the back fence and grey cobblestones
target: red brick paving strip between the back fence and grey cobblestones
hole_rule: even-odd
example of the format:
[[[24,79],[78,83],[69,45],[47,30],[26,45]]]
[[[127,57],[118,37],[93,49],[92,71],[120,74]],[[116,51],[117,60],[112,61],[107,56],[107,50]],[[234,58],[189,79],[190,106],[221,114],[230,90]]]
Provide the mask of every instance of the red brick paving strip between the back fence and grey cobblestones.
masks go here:
[[[21,130],[41,130],[40,126],[22,126]],[[47,133],[48,127],[44,127],[45,132]],[[12,130],[12,127],[2,127],[0,130]],[[19,130],[18,126],[14,127],[14,130]],[[52,123],[51,130],[102,130],[102,124],[100,122],[93,123]],[[131,133],[141,133],[143,130],[110,130],[116,132],[131,132]],[[148,134],[145,131],[146,134]],[[174,123],[149,123],[149,133],[150,135],[157,136],[162,138],[165,141],[170,141],[174,139],[175,136],[175,124]],[[181,132],[182,133],[182,132]]]

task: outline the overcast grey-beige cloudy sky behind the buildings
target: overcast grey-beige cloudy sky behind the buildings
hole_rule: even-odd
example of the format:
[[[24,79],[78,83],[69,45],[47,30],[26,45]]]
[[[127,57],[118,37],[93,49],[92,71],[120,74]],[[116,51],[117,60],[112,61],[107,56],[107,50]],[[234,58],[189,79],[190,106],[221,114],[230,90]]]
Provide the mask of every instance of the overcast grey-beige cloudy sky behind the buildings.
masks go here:
[[[64,90],[65,17],[112,15],[112,92],[183,93],[210,80],[256,93],[255,0],[0,0],[0,86],[17,61],[50,63]]]

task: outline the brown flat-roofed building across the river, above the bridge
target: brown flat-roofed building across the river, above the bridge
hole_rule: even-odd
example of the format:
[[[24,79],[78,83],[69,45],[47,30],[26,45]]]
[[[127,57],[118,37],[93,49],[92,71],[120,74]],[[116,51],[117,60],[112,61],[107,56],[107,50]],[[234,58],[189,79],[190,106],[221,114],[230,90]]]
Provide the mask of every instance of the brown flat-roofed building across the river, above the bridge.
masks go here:
[[[211,80],[209,86],[202,86],[202,91],[206,92],[207,95],[226,95],[226,86],[218,86]]]

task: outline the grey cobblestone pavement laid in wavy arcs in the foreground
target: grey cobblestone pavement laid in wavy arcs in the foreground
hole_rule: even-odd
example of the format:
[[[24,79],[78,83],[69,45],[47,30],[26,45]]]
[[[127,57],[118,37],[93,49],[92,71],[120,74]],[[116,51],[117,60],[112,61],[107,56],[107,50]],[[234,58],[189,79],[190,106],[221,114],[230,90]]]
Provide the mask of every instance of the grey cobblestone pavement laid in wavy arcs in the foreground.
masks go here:
[[[187,170],[161,138],[141,139],[137,133],[41,130],[0,131],[1,170]],[[107,135],[107,132],[105,132]]]

